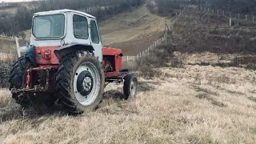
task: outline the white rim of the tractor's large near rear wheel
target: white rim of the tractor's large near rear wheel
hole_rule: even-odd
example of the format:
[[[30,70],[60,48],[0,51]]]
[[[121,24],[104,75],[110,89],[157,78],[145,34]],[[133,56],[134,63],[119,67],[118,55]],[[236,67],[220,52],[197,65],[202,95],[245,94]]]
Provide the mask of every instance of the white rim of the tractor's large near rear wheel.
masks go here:
[[[90,106],[98,96],[100,78],[91,62],[84,62],[74,75],[74,95],[83,106]]]

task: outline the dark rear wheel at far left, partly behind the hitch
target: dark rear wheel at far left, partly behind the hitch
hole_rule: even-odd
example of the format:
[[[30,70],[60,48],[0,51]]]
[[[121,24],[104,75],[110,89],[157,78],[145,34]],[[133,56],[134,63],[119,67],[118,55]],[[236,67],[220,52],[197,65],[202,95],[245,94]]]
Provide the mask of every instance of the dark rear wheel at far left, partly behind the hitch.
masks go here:
[[[10,90],[12,88],[22,89],[26,87],[26,70],[30,69],[30,67],[32,67],[32,62],[30,62],[30,59],[27,58],[26,55],[18,58],[18,61],[14,63],[14,66],[10,71]],[[27,96],[20,94],[12,94],[12,96],[23,108],[32,105],[30,98]]]

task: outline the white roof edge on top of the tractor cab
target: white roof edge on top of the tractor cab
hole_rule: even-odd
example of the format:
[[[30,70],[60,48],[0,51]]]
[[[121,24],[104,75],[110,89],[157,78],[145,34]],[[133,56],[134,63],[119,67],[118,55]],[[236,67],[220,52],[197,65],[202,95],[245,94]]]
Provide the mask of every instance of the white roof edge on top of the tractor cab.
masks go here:
[[[90,14],[86,14],[86,13],[83,13],[83,12],[77,11],[77,10],[68,10],[68,9],[43,11],[43,12],[35,13],[34,15],[63,14],[63,13],[69,13],[69,12],[76,13],[76,14],[82,14],[82,15],[84,15],[86,17],[90,17],[90,18],[95,18],[94,16],[92,16]]]

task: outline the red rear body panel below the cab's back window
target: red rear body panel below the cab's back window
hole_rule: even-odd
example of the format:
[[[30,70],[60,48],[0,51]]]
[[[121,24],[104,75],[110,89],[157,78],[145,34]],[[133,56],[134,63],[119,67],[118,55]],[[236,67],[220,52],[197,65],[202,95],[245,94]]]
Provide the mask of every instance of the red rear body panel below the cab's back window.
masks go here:
[[[58,58],[54,50],[59,46],[39,46],[35,49],[36,61],[38,65],[58,65]]]

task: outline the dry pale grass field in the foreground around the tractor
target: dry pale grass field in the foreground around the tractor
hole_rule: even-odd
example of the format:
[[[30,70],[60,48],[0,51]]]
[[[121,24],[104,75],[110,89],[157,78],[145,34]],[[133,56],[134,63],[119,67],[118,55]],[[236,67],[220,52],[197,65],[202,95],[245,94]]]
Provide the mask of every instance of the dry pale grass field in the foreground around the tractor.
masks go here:
[[[122,86],[113,84],[96,112],[79,117],[22,118],[2,90],[0,114],[11,113],[8,121],[1,117],[2,143],[256,142],[255,71],[189,65],[159,71],[158,78],[139,79],[137,98],[123,101]]]

